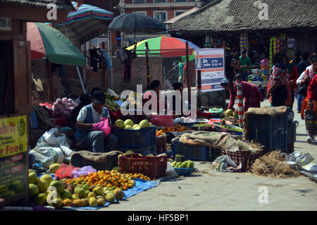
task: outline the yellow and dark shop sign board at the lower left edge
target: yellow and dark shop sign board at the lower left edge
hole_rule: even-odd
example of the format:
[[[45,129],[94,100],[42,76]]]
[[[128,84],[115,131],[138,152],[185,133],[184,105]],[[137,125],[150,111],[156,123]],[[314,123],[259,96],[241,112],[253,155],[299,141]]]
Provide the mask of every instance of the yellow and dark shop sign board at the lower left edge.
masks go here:
[[[0,198],[27,190],[27,116],[0,118]]]

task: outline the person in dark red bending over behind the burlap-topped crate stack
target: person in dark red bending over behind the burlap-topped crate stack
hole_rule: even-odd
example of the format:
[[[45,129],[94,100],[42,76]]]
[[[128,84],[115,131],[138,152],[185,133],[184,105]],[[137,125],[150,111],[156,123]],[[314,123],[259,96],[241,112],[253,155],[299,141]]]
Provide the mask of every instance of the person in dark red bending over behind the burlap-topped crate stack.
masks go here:
[[[237,83],[230,83],[228,78],[223,78],[221,86],[230,92],[230,103],[228,109],[233,109],[235,98],[237,97]],[[250,107],[260,108],[261,102],[264,101],[263,96],[256,85],[242,81],[242,92],[244,98],[244,112]]]

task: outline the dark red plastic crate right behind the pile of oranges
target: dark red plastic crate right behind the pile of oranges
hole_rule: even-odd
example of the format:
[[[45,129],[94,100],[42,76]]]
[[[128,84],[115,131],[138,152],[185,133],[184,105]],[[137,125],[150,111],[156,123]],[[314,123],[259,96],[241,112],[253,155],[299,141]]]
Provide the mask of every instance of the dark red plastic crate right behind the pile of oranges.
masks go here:
[[[135,174],[140,173],[156,179],[166,176],[167,156],[144,157],[139,154],[127,154],[119,157],[121,171]]]

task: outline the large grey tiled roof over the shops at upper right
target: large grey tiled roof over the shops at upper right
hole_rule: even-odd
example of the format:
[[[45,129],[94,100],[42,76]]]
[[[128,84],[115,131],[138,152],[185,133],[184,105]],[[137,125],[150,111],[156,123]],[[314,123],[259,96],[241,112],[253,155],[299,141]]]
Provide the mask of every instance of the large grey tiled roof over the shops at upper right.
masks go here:
[[[262,8],[268,6],[268,20],[260,20]],[[249,32],[313,28],[317,30],[316,0],[214,0],[199,11],[175,21],[170,33]]]

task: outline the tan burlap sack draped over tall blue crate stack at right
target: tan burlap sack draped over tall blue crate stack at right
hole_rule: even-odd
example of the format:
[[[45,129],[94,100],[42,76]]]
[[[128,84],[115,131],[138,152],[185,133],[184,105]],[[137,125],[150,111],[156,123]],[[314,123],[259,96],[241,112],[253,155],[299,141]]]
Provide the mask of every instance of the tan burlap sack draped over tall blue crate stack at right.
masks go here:
[[[246,140],[248,140],[248,130],[249,130],[249,115],[269,115],[273,118],[276,115],[285,114],[288,110],[288,107],[261,107],[261,108],[249,108],[243,115],[243,135]]]

